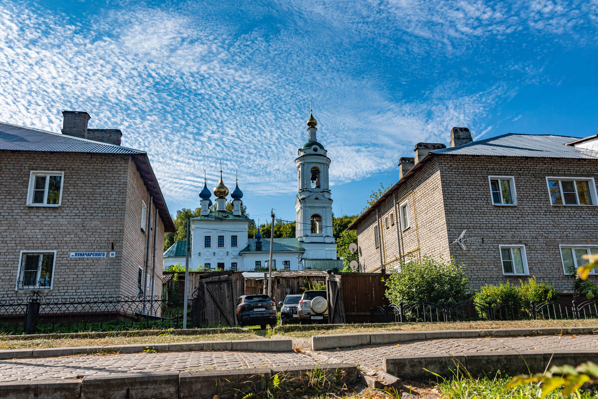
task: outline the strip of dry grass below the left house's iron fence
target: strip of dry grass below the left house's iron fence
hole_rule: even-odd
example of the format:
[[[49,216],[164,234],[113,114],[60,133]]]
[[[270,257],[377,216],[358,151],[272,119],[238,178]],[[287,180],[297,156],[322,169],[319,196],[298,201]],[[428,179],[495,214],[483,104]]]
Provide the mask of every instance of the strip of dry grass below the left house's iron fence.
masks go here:
[[[110,336],[101,338],[36,338],[6,339],[0,337],[0,349],[61,348],[65,346],[129,345],[141,343],[170,343],[260,339],[252,333],[216,333],[197,335],[160,334],[153,336]]]

